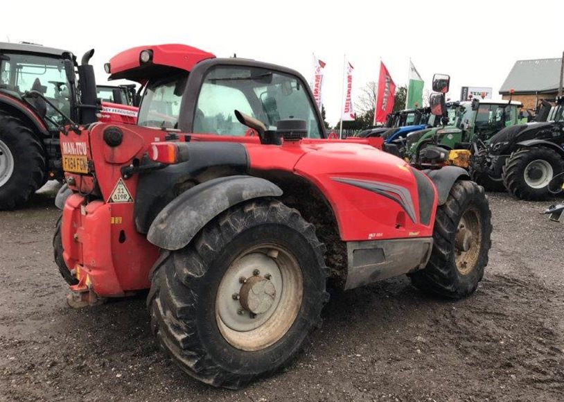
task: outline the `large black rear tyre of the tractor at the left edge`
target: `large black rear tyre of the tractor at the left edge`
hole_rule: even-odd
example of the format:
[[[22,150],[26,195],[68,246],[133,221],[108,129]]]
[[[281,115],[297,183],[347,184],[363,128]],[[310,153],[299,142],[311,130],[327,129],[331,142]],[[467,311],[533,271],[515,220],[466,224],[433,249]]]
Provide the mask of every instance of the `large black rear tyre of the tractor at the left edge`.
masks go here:
[[[24,204],[43,183],[45,155],[24,123],[0,114],[0,209]]]

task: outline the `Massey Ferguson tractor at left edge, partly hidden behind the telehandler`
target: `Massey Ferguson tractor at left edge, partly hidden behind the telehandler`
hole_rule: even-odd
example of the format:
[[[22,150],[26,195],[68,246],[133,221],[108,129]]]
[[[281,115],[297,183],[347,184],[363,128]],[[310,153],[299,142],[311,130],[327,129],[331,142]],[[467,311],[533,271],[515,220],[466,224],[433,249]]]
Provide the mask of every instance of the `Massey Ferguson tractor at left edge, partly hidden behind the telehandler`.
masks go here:
[[[98,104],[93,54],[79,66],[69,51],[0,43],[0,209],[21,206],[47,180],[62,179],[61,125],[135,122],[134,107]]]

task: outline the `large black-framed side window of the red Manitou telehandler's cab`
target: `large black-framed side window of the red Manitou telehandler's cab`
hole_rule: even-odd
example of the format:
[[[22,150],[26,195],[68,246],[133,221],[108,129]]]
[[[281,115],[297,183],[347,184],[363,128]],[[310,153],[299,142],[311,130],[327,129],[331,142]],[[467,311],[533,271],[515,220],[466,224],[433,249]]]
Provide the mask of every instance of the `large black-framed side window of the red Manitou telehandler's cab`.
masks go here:
[[[320,138],[321,127],[303,82],[297,77],[257,67],[219,66],[211,69],[200,89],[193,132],[244,136],[249,128],[234,111],[276,130],[283,119],[304,120],[309,138]]]

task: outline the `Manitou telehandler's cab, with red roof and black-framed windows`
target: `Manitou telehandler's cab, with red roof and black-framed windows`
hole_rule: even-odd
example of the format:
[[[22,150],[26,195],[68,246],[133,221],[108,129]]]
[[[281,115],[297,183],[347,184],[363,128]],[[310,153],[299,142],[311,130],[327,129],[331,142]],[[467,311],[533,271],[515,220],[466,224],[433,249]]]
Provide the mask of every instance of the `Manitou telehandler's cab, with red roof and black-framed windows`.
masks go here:
[[[278,121],[299,119],[306,121],[307,137],[326,138],[306,83],[270,64],[237,58],[219,60],[191,46],[168,44],[129,49],[114,56],[105,69],[109,80],[125,78],[141,83],[143,97],[137,124],[143,127],[256,136],[256,130],[236,119],[233,111],[239,110],[263,122],[267,131],[276,130]],[[204,73],[195,87],[187,86],[189,77]],[[193,96],[187,96],[192,92],[199,94],[197,104]],[[188,107],[193,114],[182,113]]]

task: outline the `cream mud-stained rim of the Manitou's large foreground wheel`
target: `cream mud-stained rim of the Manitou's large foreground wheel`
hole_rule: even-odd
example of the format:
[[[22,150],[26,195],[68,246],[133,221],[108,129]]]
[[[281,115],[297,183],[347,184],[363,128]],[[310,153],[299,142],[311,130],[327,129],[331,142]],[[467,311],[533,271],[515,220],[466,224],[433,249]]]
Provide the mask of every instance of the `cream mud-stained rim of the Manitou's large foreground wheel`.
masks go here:
[[[229,344],[245,351],[280,340],[296,320],[303,297],[301,268],[284,247],[250,247],[229,265],[215,298],[215,319]]]

